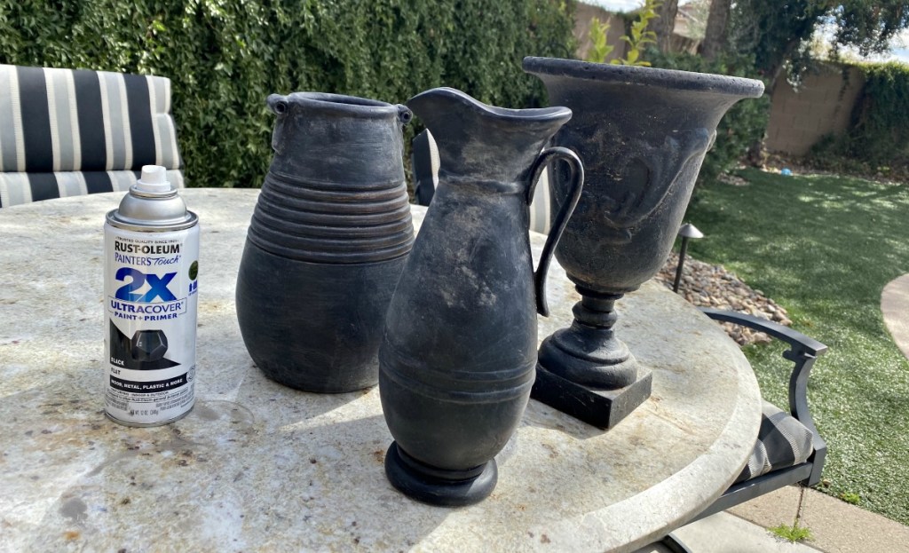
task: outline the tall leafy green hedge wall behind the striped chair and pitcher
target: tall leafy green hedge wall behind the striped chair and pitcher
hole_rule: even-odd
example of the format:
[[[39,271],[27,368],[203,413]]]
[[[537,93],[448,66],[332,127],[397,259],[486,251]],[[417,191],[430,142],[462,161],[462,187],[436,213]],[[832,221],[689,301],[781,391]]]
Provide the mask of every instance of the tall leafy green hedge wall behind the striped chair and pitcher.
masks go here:
[[[189,186],[260,186],[265,96],[316,90],[404,102],[434,86],[539,106],[524,55],[570,57],[558,0],[0,0],[0,63],[173,81]],[[409,132],[413,134],[413,130]]]

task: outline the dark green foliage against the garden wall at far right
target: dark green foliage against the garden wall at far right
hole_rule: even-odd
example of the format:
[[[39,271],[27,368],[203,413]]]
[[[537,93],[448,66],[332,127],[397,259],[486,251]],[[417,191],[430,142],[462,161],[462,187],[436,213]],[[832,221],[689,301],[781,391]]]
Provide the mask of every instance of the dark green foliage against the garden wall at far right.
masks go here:
[[[864,85],[849,129],[841,136],[824,136],[807,161],[827,170],[909,178],[909,66],[854,65],[862,72]]]

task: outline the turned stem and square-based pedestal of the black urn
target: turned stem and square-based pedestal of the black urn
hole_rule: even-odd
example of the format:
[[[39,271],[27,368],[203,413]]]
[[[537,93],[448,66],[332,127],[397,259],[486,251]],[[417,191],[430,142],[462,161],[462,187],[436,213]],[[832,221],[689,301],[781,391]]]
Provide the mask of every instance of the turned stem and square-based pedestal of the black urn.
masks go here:
[[[530,397],[600,428],[611,428],[650,397],[652,372],[614,336],[622,294],[577,286],[571,327],[540,346]]]

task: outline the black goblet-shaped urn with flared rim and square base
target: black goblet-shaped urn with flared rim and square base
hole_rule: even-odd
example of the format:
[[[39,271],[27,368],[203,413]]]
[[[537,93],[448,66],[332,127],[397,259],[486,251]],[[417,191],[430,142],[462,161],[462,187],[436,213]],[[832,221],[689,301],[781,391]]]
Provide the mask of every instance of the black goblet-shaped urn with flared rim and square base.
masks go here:
[[[735,102],[761,96],[764,85],[544,57],[524,58],[524,71],[543,80],[554,105],[573,111],[553,144],[577,153],[585,170],[584,193],[555,250],[582,300],[572,326],[540,348],[534,397],[610,427],[650,394],[649,371],[614,336],[614,302],[663,266],[720,118]],[[549,180],[557,208],[570,172],[557,167]],[[586,393],[617,389],[628,393],[605,404],[603,394]]]

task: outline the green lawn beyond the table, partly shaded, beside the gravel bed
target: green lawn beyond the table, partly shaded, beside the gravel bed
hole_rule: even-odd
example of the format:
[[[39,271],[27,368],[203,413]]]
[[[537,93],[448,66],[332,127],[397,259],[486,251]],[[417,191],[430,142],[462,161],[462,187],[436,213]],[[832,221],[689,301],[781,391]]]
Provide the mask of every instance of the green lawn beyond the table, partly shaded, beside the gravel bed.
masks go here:
[[[721,263],[830,347],[808,401],[827,440],[826,493],[909,525],[909,361],[884,327],[881,291],[909,273],[909,186],[754,169],[699,188],[691,255]],[[909,317],[909,313],[906,314]],[[748,347],[764,397],[786,405],[783,347]]]

